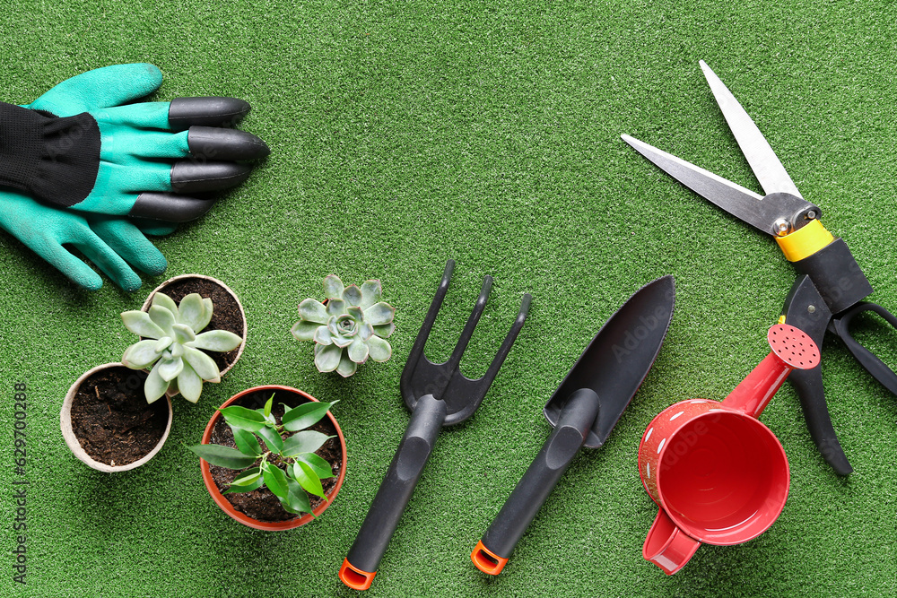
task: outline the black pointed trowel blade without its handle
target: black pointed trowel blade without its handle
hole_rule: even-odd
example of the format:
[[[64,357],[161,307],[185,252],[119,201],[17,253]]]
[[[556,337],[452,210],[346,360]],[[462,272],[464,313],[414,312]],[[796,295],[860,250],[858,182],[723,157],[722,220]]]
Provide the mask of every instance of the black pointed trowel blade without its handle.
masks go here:
[[[597,393],[599,406],[585,446],[603,445],[657,359],[674,305],[675,282],[670,275],[637,290],[582,351],[545,404],[545,418],[556,425],[570,395],[590,388]]]

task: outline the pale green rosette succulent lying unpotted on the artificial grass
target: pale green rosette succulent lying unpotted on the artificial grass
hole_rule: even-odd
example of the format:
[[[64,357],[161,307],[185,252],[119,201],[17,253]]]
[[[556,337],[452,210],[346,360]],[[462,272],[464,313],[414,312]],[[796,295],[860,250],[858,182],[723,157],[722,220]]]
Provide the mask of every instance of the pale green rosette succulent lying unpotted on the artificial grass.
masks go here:
[[[340,376],[349,377],[369,357],[388,360],[392,347],[385,339],[396,330],[396,308],[380,300],[380,282],[346,287],[338,276],[330,274],[324,279],[324,292],[327,305],[305,299],[299,304],[301,319],[292,327],[297,340],[315,342],[318,371],[336,370]]]

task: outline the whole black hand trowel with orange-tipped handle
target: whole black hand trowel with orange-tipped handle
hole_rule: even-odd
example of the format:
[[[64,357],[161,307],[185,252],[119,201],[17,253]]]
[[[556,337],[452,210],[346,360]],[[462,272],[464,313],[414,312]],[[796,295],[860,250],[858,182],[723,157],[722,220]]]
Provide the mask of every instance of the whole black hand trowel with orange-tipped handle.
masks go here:
[[[476,568],[501,573],[579,448],[605,443],[658,357],[674,303],[672,276],[649,282],[589,342],[545,405],[552,434],[471,553]]]

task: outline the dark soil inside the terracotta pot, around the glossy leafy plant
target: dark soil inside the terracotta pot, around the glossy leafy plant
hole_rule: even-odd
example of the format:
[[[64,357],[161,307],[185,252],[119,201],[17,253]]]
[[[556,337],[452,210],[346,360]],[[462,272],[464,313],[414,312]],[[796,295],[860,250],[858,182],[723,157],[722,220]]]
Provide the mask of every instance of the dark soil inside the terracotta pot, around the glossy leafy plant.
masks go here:
[[[281,416],[283,416],[283,404],[281,403],[286,403],[291,408],[302,403],[307,403],[306,399],[299,394],[293,394],[283,390],[266,390],[247,394],[236,403],[231,404],[239,404],[247,409],[258,409],[265,406],[265,403],[272,392],[274,392],[274,405],[271,408],[271,413],[278,423],[280,423]],[[339,443],[339,438],[336,438],[336,428],[333,425],[333,422],[330,421],[327,416],[309,429],[321,432],[322,434],[327,434],[327,436],[335,437],[327,439],[327,442],[316,451],[316,455],[326,460],[327,463],[333,467],[334,477],[321,480],[321,484],[324,486],[324,494],[326,494],[328,498],[331,498],[332,492],[336,488],[336,480],[339,477],[340,468],[343,466],[343,447]],[[284,435],[283,438],[287,438],[287,436]],[[227,425],[224,418],[218,418],[215,422],[209,442],[214,445],[230,446],[231,448],[237,447],[236,443],[233,441],[231,427]],[[262,445],[263,448],[267,450],[264,446],[264,442],[262,442]],[[228,490],[228,488],[231,487],[231,481],[234,481],[241,471],[245,470],[238,471],[219,467],[218,465],[209,465],[209,472],[212,473],[212,479],[220,492]],[[268,490],[265,486],[262,486],[258,490],[252,490],[251,492],[234,492],[231,494],[224,494],[223,496],[240,513],[250,516],[257,521],[288,521],[299,517],[283,510],[280,499],[274,495],[274,492]],[[311,502],[311,508],[314,509],[323,503],[324,499],[309,494],[309,501]]]

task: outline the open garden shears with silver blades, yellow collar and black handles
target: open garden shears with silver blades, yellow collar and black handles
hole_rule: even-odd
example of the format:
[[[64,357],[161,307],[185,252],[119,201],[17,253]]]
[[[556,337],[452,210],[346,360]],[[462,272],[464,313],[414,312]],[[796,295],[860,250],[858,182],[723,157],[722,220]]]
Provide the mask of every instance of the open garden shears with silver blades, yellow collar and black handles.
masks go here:
[[[897,375],[850,333],[851,321],[863,312],[874,312],[895,328],[897,317],[863,300],[872,294],[872,285],[847,244],[823,227],[819,207],[800,195],[770,144],[732,92],[703,61],[701,69],[766,195],[758,195],[629,135],[624,134],[623,141],[711,204],[775,238],[798,274],[779,322],[805,331],[819,347],[823,345],[826,331],[835,334],[860,365],[897,394]],[[840,475],[849,474],[853,468],[832,427],[820,366],[797,370],[790,379],[797,388],[807,428],[823,458]]]

